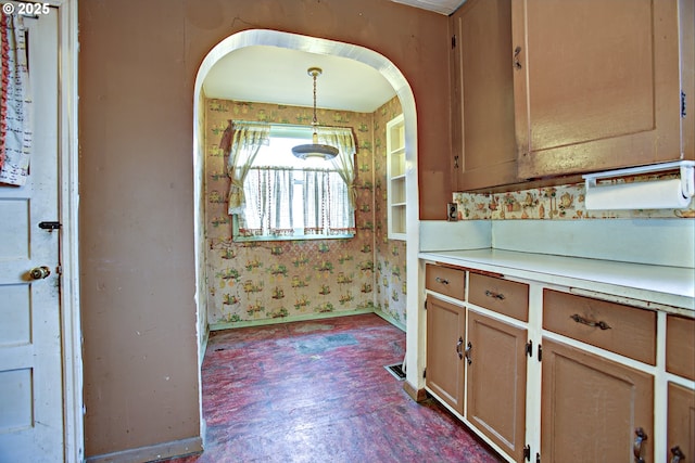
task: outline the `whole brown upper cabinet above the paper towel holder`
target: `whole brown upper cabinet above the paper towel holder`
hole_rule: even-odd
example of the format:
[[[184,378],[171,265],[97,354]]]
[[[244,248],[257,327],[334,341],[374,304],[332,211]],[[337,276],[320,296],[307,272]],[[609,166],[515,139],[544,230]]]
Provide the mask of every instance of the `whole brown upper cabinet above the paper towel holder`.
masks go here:
[[[458,191],[695,159],[692,0],[469,0],[451,26]]]

